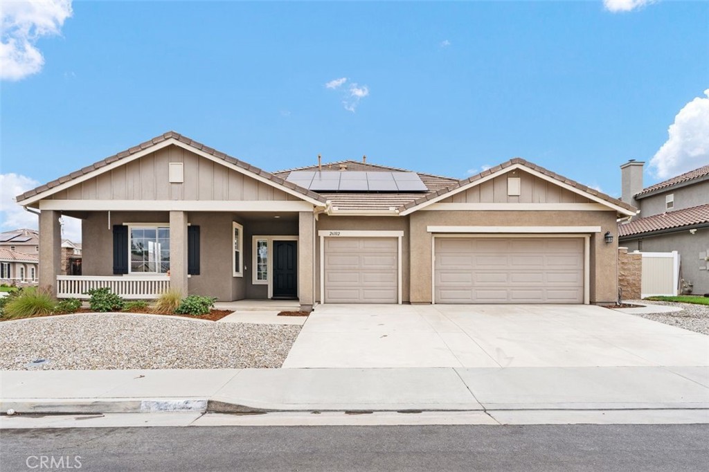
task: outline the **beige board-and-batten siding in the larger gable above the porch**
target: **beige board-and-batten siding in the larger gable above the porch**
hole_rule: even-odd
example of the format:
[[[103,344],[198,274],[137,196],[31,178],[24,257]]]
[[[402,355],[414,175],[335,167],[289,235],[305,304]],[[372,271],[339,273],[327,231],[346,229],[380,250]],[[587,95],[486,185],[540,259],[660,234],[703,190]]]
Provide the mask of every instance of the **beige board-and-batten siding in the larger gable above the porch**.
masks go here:
[[[184,164],[184,183],[171,184],[169,163]],[[51,196],[55,200],[298,200],[284,191],[200,157],[169,146]]]

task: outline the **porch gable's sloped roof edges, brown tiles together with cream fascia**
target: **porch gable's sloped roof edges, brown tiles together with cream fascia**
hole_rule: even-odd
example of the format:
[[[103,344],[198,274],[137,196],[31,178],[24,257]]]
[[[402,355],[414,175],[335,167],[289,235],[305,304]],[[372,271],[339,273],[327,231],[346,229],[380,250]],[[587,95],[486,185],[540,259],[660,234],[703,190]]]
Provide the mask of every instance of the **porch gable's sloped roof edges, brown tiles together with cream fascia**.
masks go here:
[[[129,162],[130,160],[132,160],[130,158],[135,157],[138,153],[150,152],[150,149],[152,147],[170,144],[179,145],[187,150],[196,152],[197,154],[207,154],[208,156],[216,158],[216,160],[223,161],[224,164],[228,167],[239,170],[243,174],[265,181],[268,184],[271,184],[272,186],[286,191],[287,193],[295,193],[297,196],[301,196],[301,198],[307,201],[311,201],[311,203],[317,203],[318,205],[323,206],[325,205],[325,199],[318,195],[318,193],[303,189],[302,187],[297,186],[292,182],[286,182],[284,179],[281,179],[280,177],[275,176],[270,172],[266,172],[263,169],[259,169],[258,167],[252,166],[251,164],[247,164],[246,162],[240,161],[235,157],[231,157],[228,154],[225,154],[224,152],[220,152],[216,149],[213,149],[212,147],[203,145],[201,142],[191,140],[189,137],[186,137],[179,133],[175,133],[174,131],[168,131],[167,133],[164,133],[160,136],[153,137],[152,140],[141,142],[137,146],[130,147],[130,149],[118,152],[117,154],[113,154],[113,156],[101,159],[100,161],[94,162],[94,164],[72,172],[71,174],[67,174],[65,176],[60,177],[59,179],[52,180],[47,184],[38,186],[35,189],[28,190],[25,193],[22,193],[21,195],[17,196],[17,202],[21,205],[28,205],[29,203],[32,203],[32,201],[37,201],[41,198],[45,198],[45,196],[49,196],[52,193],[60,191],[63,188],[64,184],[70,184],[72,181],[75,181],[77,179],[83,180],[99,175],[103,172],[108,171],[109,169],[112,169],[113,166],[111,166],[111,164],[121,161]],[[23,203],[23,201],[27,201],[30,198],[32,199],[32,201]]]

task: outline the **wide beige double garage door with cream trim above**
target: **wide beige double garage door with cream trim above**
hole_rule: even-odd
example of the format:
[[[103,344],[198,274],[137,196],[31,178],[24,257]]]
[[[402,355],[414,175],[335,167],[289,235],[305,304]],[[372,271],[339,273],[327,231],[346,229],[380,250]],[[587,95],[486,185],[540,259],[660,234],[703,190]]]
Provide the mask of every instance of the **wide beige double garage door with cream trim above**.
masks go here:
[[[581,237],[436,237],[436,303],[584,303]]]

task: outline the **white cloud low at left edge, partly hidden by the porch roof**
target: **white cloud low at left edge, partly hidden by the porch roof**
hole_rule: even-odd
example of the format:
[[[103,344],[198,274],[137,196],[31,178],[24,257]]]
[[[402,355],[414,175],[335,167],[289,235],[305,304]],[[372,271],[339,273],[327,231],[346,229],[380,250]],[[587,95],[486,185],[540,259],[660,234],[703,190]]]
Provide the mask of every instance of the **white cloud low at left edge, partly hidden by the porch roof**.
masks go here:
[[[30,177],[19,174],[0,174],[0,229],[3,231],[27,227],[36,230],[39,217],[30,213],[15,201],[21,193],[34,189],[40,183]],[[77,218],[62,217],[62,238],[80,242],[82,224]]]

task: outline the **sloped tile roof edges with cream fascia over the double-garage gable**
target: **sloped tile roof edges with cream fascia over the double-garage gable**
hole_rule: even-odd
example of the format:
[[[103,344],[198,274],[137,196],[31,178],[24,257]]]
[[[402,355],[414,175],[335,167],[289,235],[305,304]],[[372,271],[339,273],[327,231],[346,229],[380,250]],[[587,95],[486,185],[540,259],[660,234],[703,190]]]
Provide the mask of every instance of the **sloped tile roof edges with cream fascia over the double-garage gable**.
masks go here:
[[[406,203],[406,205],[399,208],[399,210],[401,210],[401,212],[406,212],[405,214],[413,213],[413,211],[418,210],[418,208],[423,208],[423,206],[428,206],[431,203],[435,203],[437,201],[443,200],[444,198],[448,198],[449,196],[452,196],[455,193],[458,193],[459,191],[467,190],[470,187],[480,184],[483,181],[487,181],[493,176],[505,174],[506,172],[517,168],[524,169],[527,172],[531,172],[532,174],[537,174],[537,176],[541,176],[542,178],[545,178],[549,181],[553,181],[557,185],[565,186],[569,190],[575,191],[576,193],[581,193],[593,201],[597,201],[598,203],[604,203],[607,206],[615,208],[616,210],[618,210],[619,213],[623,213],[629,216],[635,215],[637,213],[637,208],[618,200],[618,198],[613,198],[612,196],[609,196],[603,192],[599,192],[596,189],[591,189],[590,187],[585,186],[584,184],[579,184],[579,182],[577,181],[568,179],[562,175],[551,172],[545,169],[544,167],[538,166],[537,164],[533,164],[529,161],[525,161],[525,159],[522,159],[520,157],[515,157],[495,167],[486,169],[480,174],[470,176],[468,179],[457,181],[456,184],[453,184],[452,186],[449,186],[446,189],[440,189],[435,193],[428,193],[428,195],[420,197],[416,201]]]

